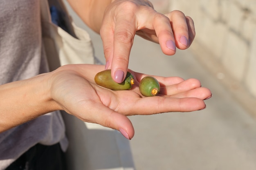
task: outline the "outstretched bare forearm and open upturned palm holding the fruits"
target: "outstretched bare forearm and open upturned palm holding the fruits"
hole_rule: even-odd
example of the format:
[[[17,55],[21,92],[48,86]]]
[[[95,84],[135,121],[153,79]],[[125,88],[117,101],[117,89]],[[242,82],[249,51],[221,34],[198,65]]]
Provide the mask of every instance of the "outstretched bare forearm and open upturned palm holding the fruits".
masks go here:
[[[204,99],[211,96],[197,79],[154,76],[161,85],[160,93],[144,97],[139,82],[147,75],[134,71],[130,71],[136,77],[132,89],[113,91],[94,82],[104,67],[65,65],[51,73],[1,85],[0,131],[53,110],[65,110],[83,121],[125,131],[131,139],[134,129],[127,116],[201,110],[206,107]]]

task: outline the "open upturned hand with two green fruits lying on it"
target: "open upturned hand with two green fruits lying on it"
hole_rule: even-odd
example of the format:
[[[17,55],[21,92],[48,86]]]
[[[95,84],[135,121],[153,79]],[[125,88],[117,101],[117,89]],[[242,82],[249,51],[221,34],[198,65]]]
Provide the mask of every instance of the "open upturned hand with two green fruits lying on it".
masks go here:
[[[197,79],[154,76],[161,85],[160,94],[144,97],[138,85],[146,75],[133,71],[136,78],[132,89],[112,91],[94,82],[94,76],[102,70],[104,66],[85,64],[58,68],[50,81],[52,99],[67,113],[119,130],[128,139],[133,137],[134,129],[126,116],[201,110],[205,108],[203,100],[211,96]]]

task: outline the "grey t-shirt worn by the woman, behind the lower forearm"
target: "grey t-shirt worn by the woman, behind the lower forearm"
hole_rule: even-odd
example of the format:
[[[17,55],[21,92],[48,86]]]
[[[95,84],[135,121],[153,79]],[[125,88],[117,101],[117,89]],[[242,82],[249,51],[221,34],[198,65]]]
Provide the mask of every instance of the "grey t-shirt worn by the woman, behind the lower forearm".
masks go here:
[[[0,84],[48,72],[42,50],[39,0],[2,0],[0,5]],[[59,111],[0,133],[0,170],[37,143],[60,142],[67,149]]]

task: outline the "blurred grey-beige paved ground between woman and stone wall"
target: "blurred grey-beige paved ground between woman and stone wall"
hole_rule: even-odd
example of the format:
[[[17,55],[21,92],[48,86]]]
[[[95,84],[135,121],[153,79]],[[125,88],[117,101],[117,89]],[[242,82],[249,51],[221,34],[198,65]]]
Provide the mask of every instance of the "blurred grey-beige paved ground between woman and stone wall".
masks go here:
[[[86,29],[76,16],[74,19]],[[96,56],[105,62],[99,35],[89,32]],[[256,170],[255,119],[189,50],[166,56],[158,44],[136,38],[129,68],[197,78],[213,93],[201,111],[130,117],[135,127],[130,145],[137,170]]]

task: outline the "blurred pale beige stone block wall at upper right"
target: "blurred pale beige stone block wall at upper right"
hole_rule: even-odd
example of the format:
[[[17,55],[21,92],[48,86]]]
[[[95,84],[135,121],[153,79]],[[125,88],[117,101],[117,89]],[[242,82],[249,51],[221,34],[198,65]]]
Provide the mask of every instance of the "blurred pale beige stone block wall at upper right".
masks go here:
[[[193,18],[197,55],[212,61],[256,97],[256,0],[151,0],[157,11],[180,10]],[[256,104],[256,103],[255,103]]]

